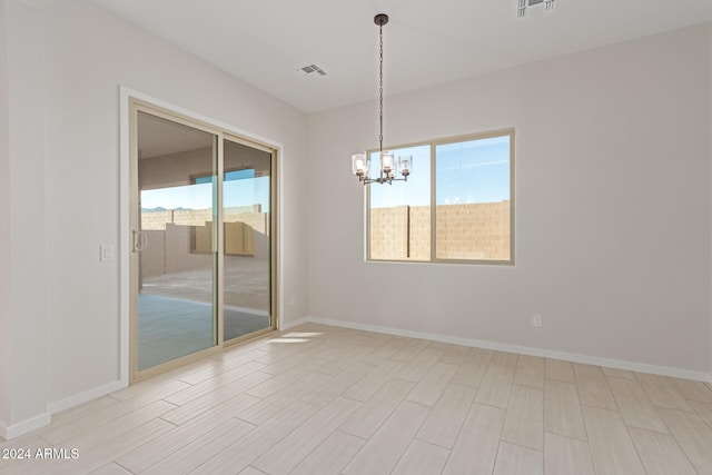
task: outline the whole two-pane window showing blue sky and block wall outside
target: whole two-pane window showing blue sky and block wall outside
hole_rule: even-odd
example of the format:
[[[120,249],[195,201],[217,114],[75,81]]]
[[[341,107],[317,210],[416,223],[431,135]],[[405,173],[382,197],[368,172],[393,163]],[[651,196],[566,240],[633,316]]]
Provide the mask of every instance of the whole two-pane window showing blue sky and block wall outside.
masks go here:
[[[514,263],[514,130],[392,149],[408,181],[370,185],[369,260]],[[372,176],[378,151],[370,151]]]

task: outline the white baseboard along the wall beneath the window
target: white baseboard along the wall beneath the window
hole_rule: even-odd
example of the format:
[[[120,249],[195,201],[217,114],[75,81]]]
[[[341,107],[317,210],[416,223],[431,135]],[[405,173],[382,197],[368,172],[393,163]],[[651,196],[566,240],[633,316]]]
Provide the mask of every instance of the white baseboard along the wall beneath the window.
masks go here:
[[[500,352],[518,353],[528,356],[541,356],[544,358],[563,359],[572,363],[581,363],[584,365],[605,366],[609,368],[625,369],[637,373],[650,373],[661,376],[671,376],[681,379],[692,379],[699,382],[712,383],[712,375],[701,372],[692,372],[689,369],[672,368],[668,366],[647,365],[644,363],[625,362],[620,359],[601,358],[597,356],[578,355],[575,353],[555,352],[551,349],[532,348],[528,346],[507,345],[495,342],[486,342],[472,338],[461,338],[451,335],[431,334],[425,331],[404,330],[400,328],[383,327],[379,325],[366,325],[354,321],[333,320],[329,318],[307,317],[298,320],[291,326],[300,323],[312,321],[316,324],[330,325],[335,327],[352,328],[364,331],[382,333],[387,335],[406,336],[411,338],[429,339],[433,342],[449,343],[453,345],[469,346],[473,348],[494,349]]]

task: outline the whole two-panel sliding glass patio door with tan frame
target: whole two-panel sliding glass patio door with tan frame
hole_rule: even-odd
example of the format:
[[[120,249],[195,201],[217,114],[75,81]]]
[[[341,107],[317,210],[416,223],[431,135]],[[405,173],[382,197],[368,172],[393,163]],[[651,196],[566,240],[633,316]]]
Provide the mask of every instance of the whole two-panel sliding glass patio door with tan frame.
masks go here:
[[[132,105],[131,379],[275,328],[275,151]]]

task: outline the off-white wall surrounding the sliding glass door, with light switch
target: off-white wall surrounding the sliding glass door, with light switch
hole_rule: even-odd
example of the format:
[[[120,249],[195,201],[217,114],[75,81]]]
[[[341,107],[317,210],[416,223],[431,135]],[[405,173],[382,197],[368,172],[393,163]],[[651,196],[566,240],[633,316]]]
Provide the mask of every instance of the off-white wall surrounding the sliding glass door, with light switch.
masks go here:
[[[13,9],[28,8],[21,0],[4,1]],[[42,286],[43,276],[47,278],[46,289],[36,289],[19,268],[11,270],[10,301],[21,299],[12,305],[3,324],[17,326],[24,321],[28,303],[30,309],[46,307],[46,319],[37,333],[13,335],[13,340],[18,346],[27,345],[28,352],[34,349],[43,358],[46,355],[40,372],[24,377],[47,386],[37,395],[13,387],[11,403],[39,398],[42,410],[46,406],[52,410],[97,395],[119,378],[119,260],[99,261],[101,244],[113,245],[119,251],[128,239],[119,228],[119,86],[284,146],[279,157],[284,202],[281,290],[286,296],[296,296],[295,305],[281,309],[286,323],[306,315],[307,228],[301,215],[306,191],[300,182],[304,168],[299,165],[306,160],[307,119],[303,112],[88,0],[47,3],[46,10],[37,10],[29,18],[9,10],[8,24],[18,31],[46,22],[43,30],[30,28],[27,33],[39,33],[37,41],[46,48],[43,60],[33,43],[29,50],[21,44],[9,48],[10,56],[42,60],[43,71],[37,80],[29,75],[22,79],[29,80],[27,87],[32,88],[43,110],[33,120],[19,116],[28,121],[18,125],[16,136],[27,139],[34,133],[28,140],[34,145],[24,146],[31,148],[32,155],[20,160],[13,155],[21,150],[11,150],[10,166],[17,162],[22,167],[12,168],[9,179],[2,174],[0,188],[4,188],[4,181],[17,182],[9,200],[17,199],[17,210],[33,216],[27,222],[10,221],[12,236],[29,238],[28,243],[12,240],[12,256],[23,256],[18,266],[27,261],[33,265],[31,270],[42,270],[34,276]],[[18,101],[18,110],[24,89],[9,88],[10,100]],[[11,109],[10,117],[14,112]],[[34,127],[38,125],[39,135]],[[38,155],[37,148],[43,154]],[[6,160],[0,161],[0,167],[8,167]],[[1,221],[7,226],[7,219]],[[18,224],[22,228],[16,231]],[[31,235],[26,236],[27,232]],[[4,264],[7,247],[0,244],[0,264]],[[0,303],[6,304],[4,299]],[[47,343],[44,335],[51,335]],[[23,368],[24,355],[12,354],[9,362],[12,367]],[[12,383],[20,380],[18,375],[11,378]],[[6,397],[4,387],[2,393]],[[0,418],[6,409],[0,407]],[[34,413],[38,410],[34,407]],[[33,415],[21,414],[4,424],[16,425]]]

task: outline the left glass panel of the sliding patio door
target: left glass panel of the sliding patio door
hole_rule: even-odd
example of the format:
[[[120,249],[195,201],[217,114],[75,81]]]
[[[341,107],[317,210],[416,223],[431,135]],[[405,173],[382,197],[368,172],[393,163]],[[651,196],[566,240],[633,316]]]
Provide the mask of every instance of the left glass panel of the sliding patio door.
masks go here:
[[[217,136],[138,111],[138,370],[217,345]]]

